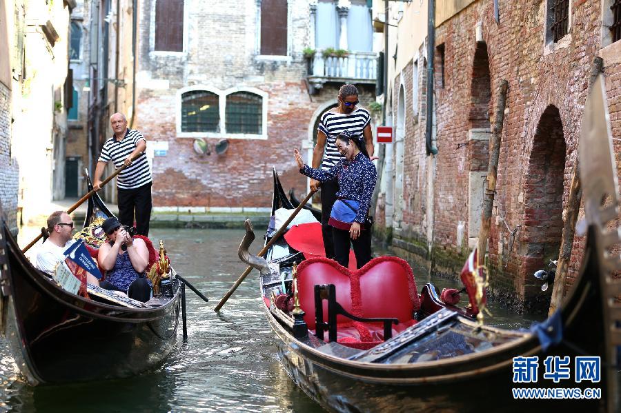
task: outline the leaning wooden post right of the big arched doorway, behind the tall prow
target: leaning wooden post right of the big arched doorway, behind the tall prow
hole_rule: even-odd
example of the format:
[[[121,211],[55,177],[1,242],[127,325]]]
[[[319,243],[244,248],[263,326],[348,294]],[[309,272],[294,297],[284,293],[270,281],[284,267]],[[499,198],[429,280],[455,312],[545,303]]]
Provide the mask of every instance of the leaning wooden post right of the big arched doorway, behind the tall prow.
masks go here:
[[[598,74],[602,72],[604,61],[601,57],[593,58],[591,66],[591,79],[589,79],[589,90],[593,86],[593,82],[597,79]],[[589,93],[587,92],[587,95]],[[576,146],[578,150],[578,146]],[[578,221],[578,213],[580,212],[580,201],[582,201],[582,185],[580,185],[580,165],[578,165],[578,157],[575,157],[575,165],[571,174],[571,186],[569,187],[569,197],[567,205],[563,209],[565,222],[563,223],[563,234],[561,238],[560,251],[558,253],[558,262],[556,263],[556,276],[554,278],[554,288],[552,289],[552,298],[550,300],[550,309],[548,316],[560,307],[565,293],[565,279],[567,270],[569,269],[569,259],[571,259],[571,250],[573,249],[573,236],[575,234],[575,222]]]

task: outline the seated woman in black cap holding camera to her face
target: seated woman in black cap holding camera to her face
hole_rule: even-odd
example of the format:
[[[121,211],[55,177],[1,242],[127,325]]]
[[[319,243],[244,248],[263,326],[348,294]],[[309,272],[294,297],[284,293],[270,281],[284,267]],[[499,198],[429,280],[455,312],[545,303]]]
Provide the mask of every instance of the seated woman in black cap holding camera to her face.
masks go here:
[[[108,242],[101,244],[97,262],[106,271],[106,281],[99,285],[106,290],[126,292],[130,299],[145,303],[151,296],[151,282],[145,276],[149,262],[146,243],[132,238],[119,220],[112,217],[101,224]]]

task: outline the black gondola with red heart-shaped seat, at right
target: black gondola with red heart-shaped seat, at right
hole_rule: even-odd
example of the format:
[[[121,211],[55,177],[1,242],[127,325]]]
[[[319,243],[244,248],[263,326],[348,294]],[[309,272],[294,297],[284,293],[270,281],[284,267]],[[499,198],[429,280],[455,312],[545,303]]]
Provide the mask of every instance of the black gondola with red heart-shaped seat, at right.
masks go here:
[[[287,250],[285,241],[274,243],[265,259],[253,256],[248,245],[254,234],[247,221],[239,257],[261,272],[263,310],[291,379],[319,405],[337,412],[618,412],[621,315],[614,299],[621,294],[621,281],[612,274],[621,269],[621,260],[609,251],[620,236],[617,228],[607,229],[617,216],[618,188],[603,90],[599,79],[582,125],[588,230],[580,276],[560,310],[531,330],[489,327],[443,305],[420,314],[416,308],[423,304],[400,294],[410,286],[393,276],[400,271],[395,265],[385,266],[381,276],[366,266],[345,274],[324,258],[304,259]],[[610,199],[606,206],[604,195]],[[271,234],[268,230],[266,238]],[[394,263],[374,265],[386,262]],[[409,298],[415,301],[415,294]],[[414,311],[403,316],[402,307]],[[405,328],[391,332],[393,319]],[[361,328],[371,332],[370,340]],[[548,375],[560,372],[551,367],[555,356],[563,362],[569,357],[571,368],[563,373],[569,377],[559,374],[556,381]],[[582,361],[595,359],[582,357],[599,358],[600,369],[592,364],[585,376]],[[526,371],[520,363],[537,367],[533,371],[531,364]],[[527,390],[540,399],[524,399]],[[569,393],[586,398],[572,399]]]

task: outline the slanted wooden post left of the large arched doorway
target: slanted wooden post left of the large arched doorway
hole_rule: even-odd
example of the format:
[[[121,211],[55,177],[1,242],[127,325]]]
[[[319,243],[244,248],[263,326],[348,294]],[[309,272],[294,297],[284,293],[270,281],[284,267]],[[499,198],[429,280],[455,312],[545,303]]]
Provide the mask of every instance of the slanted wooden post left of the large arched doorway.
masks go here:
[[[500,141],[502,139],[502,125],[504,123],[504,108],[506,106],[506,93],[509,90],[509,82],[505,79],[500,81],[498,85],[498,103],[496,106],[496,118],[494,121],[494,129],[492,139],[489,142],[489,166],[487,168],[487,185],[485,194],[483,195],[483,210],[481,212],[481,228],[479,229],[479,241],[477,249],[479,250],[478,264],[483,265],[485,262],[485,251],[487,250],[487,238],[489,236],[489,227],[491,225],[491,211],[494,204],[494,196],[496,194],[496,174],[498,170],[498,159],[500,158]]]

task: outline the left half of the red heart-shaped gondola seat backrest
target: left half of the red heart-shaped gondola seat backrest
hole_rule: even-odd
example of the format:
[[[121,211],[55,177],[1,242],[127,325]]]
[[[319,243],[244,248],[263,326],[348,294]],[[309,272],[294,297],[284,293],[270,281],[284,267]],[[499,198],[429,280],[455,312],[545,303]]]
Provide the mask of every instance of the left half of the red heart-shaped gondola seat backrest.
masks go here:
[[[304,310],[304,321],[309,329],[315,329],[315,285],[334,284],[337,303],[347,312],[353,312],[351,305],[351,289],[347,269],[336,261],[317,257],[302,261],[297,267],[297,288],[299,305]],[[328,321],[328,301],[324,301],[324,321]],[[348,319],[337,316],[337,323],[345,323]]]

